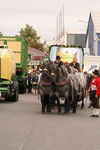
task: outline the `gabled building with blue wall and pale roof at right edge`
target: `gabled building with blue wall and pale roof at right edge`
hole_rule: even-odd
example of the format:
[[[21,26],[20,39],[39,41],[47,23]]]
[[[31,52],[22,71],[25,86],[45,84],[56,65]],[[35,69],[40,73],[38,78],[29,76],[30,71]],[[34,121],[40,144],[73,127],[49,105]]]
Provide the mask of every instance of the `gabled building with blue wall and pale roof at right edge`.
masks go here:
[[[100,12],[91,12],[89,15],[86,48],[90,55],[100,56]]]

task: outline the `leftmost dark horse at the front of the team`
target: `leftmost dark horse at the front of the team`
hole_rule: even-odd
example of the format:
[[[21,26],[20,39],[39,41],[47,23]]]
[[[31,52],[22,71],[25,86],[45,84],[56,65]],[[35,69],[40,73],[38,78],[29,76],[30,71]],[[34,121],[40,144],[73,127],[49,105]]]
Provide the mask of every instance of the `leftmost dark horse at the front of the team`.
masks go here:
[[[51,76],[50,66],[52,62],[47,61],[43,64],[43,71],[39,82],[39,91],[41,96],[42,113],[51,112],[51,100],[54,93],[53,78]]]

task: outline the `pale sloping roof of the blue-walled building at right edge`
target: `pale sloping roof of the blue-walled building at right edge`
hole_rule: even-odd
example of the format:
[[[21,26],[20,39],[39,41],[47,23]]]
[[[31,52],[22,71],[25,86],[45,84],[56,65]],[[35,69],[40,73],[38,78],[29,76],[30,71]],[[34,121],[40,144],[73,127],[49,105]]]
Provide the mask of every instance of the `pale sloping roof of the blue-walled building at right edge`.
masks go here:
[[[94,28],[96,33],[100,33],[100,11],[91,12]]]

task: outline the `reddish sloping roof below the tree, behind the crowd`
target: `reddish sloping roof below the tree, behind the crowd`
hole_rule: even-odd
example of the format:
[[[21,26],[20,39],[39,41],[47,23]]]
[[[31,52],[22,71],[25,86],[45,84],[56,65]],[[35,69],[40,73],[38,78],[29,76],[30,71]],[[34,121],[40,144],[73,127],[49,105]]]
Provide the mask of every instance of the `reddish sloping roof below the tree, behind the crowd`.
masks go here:
[[[32,54],[32,60],[40,60],[41,58],[47,56],[47,54],[45,54],[44,52],[32,47],[28,48],[28,53]]]

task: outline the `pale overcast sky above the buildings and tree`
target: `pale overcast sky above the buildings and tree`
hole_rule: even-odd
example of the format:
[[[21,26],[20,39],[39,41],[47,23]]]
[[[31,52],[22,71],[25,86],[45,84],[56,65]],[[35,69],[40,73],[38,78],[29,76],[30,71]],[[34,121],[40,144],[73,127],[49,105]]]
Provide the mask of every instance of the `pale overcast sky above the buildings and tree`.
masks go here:
[[[42,41],[52,40],[63,5],[66,31],[85,31],[90,12],[100,11],[100,0],[0,0],[0,32],[14,36],[29,24]]]

